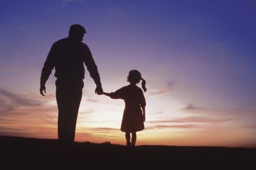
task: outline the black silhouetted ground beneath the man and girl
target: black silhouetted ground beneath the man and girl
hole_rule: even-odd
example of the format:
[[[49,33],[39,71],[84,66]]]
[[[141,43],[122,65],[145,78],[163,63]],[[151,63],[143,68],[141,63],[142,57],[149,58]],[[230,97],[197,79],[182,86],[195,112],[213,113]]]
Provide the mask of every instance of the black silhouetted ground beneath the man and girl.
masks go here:
[[[136,146],[0,137],[0,169],[256,169],[256,149]]]

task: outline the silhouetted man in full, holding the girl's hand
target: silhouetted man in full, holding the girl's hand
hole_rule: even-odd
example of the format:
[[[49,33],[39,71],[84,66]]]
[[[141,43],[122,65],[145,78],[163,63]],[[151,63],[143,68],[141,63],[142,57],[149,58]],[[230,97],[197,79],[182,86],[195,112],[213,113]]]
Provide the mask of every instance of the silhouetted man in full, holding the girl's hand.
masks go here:
[[[40,81],[40,93],[44,96],[45,83],[55,67],[56,99],[58,105],[58,139],[65,143],[75,140],[76,122],[82,89],[84,87],[84,64],[95,81],[95,93],[103,94],[97,66],[89,47],[82,43],[83,26],[70,26],[69,36],[53,43],[45,60]]]

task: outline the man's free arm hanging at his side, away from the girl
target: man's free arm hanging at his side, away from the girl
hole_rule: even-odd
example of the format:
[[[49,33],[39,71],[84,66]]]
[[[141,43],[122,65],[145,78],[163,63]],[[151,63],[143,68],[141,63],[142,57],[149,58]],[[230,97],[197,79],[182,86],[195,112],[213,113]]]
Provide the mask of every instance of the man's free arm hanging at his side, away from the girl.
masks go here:
[[[44,96],[44,93],[46,93],[45,91],[45,83],[48,80],[52,69],[55,66],[54,63],[54,56],[55,56],[55,44],[52,45],[50,52],[48,53],[48,56],[44,62],[44,67],[42,69],[42,73],[41,73],[41,79],[40,79],[40,93],[42,94],[42,96]],[[44,93],[43,93],[44,92]]]

